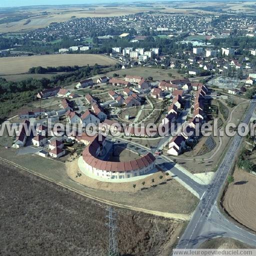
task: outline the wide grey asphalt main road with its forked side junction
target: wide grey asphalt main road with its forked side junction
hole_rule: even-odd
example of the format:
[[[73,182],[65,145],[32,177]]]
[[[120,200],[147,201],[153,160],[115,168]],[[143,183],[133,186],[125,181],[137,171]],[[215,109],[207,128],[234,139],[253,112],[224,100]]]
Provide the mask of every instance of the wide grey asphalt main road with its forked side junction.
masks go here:
[[[256,100],[249,104],[243,122],[248,123],[255,111]],[[206,239],[225,236],[256,246],[256,235],[230,222],[219,212],[217,198],[240,148],[242,137],[235,135],[216,171],[212,183],[207,185],[193,216],[176,248],[197,248]]]

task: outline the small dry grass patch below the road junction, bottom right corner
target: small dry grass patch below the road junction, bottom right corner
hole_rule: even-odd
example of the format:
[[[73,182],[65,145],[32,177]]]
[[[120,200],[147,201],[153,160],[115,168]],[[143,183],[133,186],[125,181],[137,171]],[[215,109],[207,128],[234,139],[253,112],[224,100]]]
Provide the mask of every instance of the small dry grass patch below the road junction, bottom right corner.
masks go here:
[[[252,246],[238,240],[226,237],[218,237],[203,242],[200,249],[250,249]]]

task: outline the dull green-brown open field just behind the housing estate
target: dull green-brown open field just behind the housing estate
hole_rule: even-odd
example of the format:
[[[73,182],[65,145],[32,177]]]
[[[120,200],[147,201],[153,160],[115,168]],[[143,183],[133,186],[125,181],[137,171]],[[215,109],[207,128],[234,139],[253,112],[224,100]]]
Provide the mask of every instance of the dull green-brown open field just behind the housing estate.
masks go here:
[[[120,69],[106,73],[107,76],[112,76],[113,73],[117,73],[120,76],[123,74],[126,75],[139,75],[143,78],[152,76],[153,80],[170,80],[170,79],[179,79],[183,78],[182,74],[179,74],[176,69],[159,69],[152,67],[132,67],[127,69]],[[171,73],[172,76],[169,76],[168,73]]]

